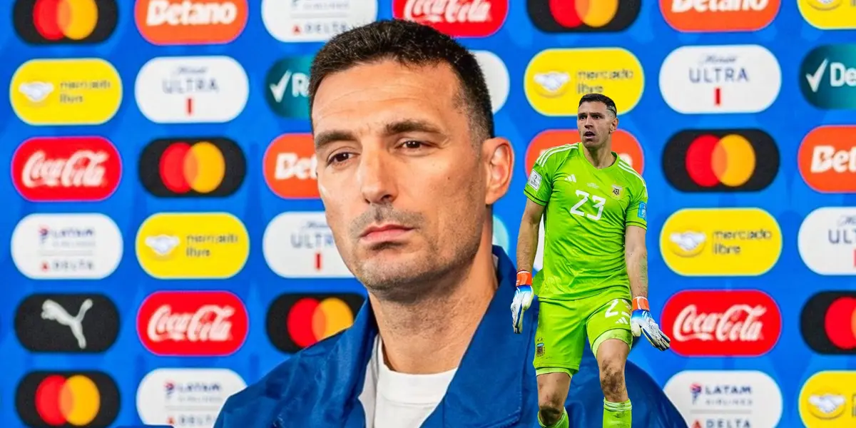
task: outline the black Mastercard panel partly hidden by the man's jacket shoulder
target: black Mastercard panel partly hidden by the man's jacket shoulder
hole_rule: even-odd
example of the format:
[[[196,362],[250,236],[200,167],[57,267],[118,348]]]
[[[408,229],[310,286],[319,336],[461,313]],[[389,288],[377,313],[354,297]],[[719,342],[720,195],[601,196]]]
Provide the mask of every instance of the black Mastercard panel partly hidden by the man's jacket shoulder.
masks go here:
[[[310,347],[354,324],[365,300],[360,294],[282,294],[268,310],[270,342],[288,354]]]

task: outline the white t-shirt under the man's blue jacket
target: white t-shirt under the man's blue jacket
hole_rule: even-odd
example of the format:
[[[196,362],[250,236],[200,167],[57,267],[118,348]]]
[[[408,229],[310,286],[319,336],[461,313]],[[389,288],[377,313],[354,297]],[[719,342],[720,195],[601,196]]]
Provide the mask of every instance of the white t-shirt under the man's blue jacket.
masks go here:
[[[443,400],[457,369],[428,375],[393,372],[382,346],[377,335],[360,393],[366,428],[419,428]]]

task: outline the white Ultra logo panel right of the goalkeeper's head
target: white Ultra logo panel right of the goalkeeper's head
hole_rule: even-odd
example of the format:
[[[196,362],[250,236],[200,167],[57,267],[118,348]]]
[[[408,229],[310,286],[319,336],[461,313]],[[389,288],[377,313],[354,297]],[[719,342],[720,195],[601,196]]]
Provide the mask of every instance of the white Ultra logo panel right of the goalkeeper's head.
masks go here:
[[[781,88],[776,56],[759,45],[683,46],[660,68],[663,99],[679,113],[758,113]]]

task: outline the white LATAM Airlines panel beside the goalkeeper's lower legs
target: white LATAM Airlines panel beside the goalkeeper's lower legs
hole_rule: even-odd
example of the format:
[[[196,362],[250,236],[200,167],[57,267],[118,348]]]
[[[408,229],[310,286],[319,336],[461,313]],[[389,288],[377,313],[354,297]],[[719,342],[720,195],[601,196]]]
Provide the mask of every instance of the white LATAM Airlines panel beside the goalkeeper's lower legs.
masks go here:
[[[679,372],[663,391],[689,426],[775,428],[782,418],[782,390],[764,372]]]

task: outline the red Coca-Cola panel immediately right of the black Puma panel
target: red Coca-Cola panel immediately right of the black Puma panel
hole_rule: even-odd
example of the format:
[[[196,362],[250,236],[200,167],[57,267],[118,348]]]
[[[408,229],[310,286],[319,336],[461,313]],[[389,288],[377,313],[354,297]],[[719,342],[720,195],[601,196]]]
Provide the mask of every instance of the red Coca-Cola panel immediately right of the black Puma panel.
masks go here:
[[[137,313],[137,335],[152,354],[223,356],[247,339],[247,308],[225,291],[158,291]]]

